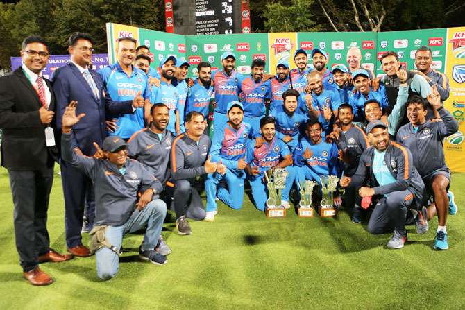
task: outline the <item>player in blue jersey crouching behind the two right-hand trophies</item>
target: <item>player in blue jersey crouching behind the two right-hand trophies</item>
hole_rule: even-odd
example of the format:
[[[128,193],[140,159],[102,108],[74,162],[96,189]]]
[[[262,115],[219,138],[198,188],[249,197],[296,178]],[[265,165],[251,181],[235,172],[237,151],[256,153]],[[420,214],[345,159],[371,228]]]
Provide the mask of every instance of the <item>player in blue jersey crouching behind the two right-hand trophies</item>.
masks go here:
[[[323,176],[336,175],[341,177],[341,167],[337,160],[338,150],[334,143],[323,142],[321,132],[323,126],[317,119],[308,119],[305,123],[307,130],[305,136],[301,138],[294,150],[293,159],[297,172],[297,182],[302,184],[305,180],[316,181],[323,184]],[[334,203],[337,207],[341,206],[339,191],[334,192]]]

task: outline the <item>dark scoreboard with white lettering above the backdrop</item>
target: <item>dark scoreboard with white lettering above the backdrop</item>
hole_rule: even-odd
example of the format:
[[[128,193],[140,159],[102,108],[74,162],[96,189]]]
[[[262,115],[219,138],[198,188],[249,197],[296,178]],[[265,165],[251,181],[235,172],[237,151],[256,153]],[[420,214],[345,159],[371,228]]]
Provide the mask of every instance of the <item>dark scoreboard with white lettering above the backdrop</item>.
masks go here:
[[[233,0],[195,0],[196,35],[234,33]]]

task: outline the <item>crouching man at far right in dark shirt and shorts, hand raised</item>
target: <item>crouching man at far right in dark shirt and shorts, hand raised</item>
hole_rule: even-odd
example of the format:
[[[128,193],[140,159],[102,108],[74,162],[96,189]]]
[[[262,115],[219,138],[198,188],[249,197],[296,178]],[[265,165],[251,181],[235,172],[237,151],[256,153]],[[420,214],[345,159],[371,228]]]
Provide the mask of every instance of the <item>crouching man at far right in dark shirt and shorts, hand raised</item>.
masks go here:
[[[421,96],[412,96],[407,101],[407,117],[410,123],[399,129],[396,139],[402,141],[412,152],[414,165],[423,178],[428,194],[434,198],[439,222],[434,248],[447,250],[449,247],[446,221],[449,205],[451,205],[447,193],[450,184],[450,170],[446,166],[444,158],[443,139],[457,132],[459,124],[452,114],[441,105],[441,96],[435,87],[433,87],[432,95],[428,95],[428,97],[428,101],[439,112],[443,121],[427,121],[425,117],[428,101]],[[430,207],[433,211],[432,214],[434,214],[434,204]],[[455,212],[453,213],[455,214]],[[425,212],[419,215],[422,216],[423,221],[427,221]]]

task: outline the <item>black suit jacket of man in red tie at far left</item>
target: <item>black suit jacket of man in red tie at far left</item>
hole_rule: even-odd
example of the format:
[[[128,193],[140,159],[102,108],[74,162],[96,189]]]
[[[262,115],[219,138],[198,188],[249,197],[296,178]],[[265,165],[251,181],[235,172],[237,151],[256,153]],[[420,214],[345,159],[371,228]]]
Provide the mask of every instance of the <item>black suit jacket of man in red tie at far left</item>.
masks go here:
[[[53,89],[49,80],[44,78],[44,82],[51,92],[49,110],[56,112]],[[13,171],[33,171],[51,167],[53,160],[58,161],[58,146],[45,145],[47,125],[40,121],[40,107],[40,97],[21,67],[0,77],[1,166]],[[56,117],[49,126],[58,143]]]

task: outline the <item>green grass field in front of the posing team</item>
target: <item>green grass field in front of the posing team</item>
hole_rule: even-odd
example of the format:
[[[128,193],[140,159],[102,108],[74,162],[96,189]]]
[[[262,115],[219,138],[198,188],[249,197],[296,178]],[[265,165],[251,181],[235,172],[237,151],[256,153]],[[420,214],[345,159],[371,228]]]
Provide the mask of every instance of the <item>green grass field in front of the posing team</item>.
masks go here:
[[[138,259],[140,232],[126,235],[110,281],[96,276],[94,257],[75,258],[42,264],[55,283],[36,287],[22,278],[8,172],[1,168],[0,309],[464,309],[464,188],[465,175],[454,173],[459,212],[448,218],[450,249],[443,252],[432,250],[436,217],[427,234],[407,227],[405,248],[390,250],[391,234],[369,234],[344,209],[338,218],[266,218],[246,196],[242,210],[219,203],[214,222],[190,221],[191,236],[177,234],[169,212],[162,234],[173,254],[164,266]],[[57,174],[48,228],[51,246],[65,252]]]

